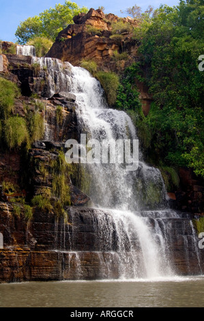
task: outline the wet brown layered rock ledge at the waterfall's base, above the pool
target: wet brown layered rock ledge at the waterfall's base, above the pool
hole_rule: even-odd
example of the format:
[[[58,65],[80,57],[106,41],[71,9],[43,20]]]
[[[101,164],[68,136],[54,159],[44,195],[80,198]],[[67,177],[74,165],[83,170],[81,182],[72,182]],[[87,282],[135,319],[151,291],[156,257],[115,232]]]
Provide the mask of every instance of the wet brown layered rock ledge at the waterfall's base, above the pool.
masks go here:
[[[0,282],[119,277],[117,237],[109,242],[106,232],[99,230],[104,211],[70,207],[67,212],[69,223],[35,208],[33,219],[27,222],[23,212],[15,217],[12,204],[0,202],[0,230],[5,236],[5,248],[0,250]],[[171,265],[178,275],[199,275],[204,269],[204,252],[195,251],[189,222],[185,216],[165,220],[171,229]],[[140,261],[142,253],[137,243],[135,246]]]

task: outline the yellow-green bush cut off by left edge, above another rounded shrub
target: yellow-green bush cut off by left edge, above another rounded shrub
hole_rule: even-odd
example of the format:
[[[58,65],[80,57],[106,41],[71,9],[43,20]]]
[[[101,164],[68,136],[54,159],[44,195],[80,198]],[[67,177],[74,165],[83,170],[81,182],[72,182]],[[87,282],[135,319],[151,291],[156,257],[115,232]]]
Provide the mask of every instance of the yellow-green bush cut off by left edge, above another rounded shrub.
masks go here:
[[[7,118],[14,111],[14,100],[20,94],[15,83],[0,77],[0,117]]]

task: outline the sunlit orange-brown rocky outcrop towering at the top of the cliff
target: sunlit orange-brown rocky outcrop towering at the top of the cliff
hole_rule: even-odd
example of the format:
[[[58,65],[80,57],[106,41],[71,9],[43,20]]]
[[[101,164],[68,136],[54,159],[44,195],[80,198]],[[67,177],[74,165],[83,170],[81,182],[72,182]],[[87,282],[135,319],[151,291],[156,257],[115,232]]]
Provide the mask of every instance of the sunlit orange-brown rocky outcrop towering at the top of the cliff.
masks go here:
[[[91,59],[103,70],[110,71],[116,68],[114,51],[121,52],[125,48],[130,57],[134,55],[136,42],[130,40],[130,31],[124,31],[121,40],[110,38],[112,23],[122,21],[135,26],[132,18],[118,18],[113,14],[105,15],[101,10],[90,9],[87,14],[79,14],[73,20],[75,24],[68,25],[59,33],[46,57],[69,61],[74,66],[79,66],[82,59]],[[125,67],[126,63],[121,65]]]

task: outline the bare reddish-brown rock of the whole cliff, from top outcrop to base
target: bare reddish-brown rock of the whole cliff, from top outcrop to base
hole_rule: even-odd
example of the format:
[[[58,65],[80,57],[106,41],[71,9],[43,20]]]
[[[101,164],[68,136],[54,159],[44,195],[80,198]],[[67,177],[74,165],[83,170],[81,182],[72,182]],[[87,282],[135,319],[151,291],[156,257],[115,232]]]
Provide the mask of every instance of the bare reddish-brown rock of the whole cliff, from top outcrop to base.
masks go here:
[[[82,14],[74,18],[75,25],[68,26],[65,31],[61,31],[51,51],[56,48],[58,57],[63,60],[70,57],[76,64],[79,59],[94,57],[98,59],[100,66],[104,66],[104,70],[109,70],[115,64],[111,58],[113,51],[115,48],[119,51],[121,44],[106,36],[110,35],[111,23],[105,19],[118,21],[118,18],[113,15],[104,18],[102,12],[97,10],[90,10],[89,14]],[[85,30],[87,25],[96,29],[102,28],[104,36],[87,34]],[[60,40],[65,37],[66,40]],[[76,42],[77,39],[81,48]],[[123,48],[129,48],[132,54],[135,49],[127,39],[126,34],[122,40]],[[62,52],[59,48],[63,49]],[[34,206],[32,219],[27,219],[25,207],[20,204],[20,201],[20,212],[15,212],[17,201],[12,201],[12,197],[19,197],[19,199],[25,197],[30,200],[34,195],[40,195],[44,189],[47,191],[52,189],[53,175],[50,164],[57,160],[59,150],[63,148],[67,139],[78,140],[79,132],[75,113],[77,107],[73,94],[65,97],[59,93],[61,83],[57,87],[56,81],[55,91],[51,92],[48,77],[46,78],[46,68],[44,77],[42,77],[38,64],[32,64],[30,56],[8,53],[1,57],[1,76],[18,84],[23,94],[14,103],[14,115],[26,117],[27,113],[35,113],[36,104],[38,104],[38,109],[39,104],[43,104],[40,113],[46,121],[46,134],[48,135],[42,141],[35,141],[32,144],[26,160],[16,150],[5,152],[2,149],[0,152],[1,182],[10,181],[20,186],[18,195],[14,193],[0,195],[0,232],[3,234],[4,245],[4,248],[0,250],[0,281],[119,277],[117,238],[113,233],[113,242],[109,247],[106,247],[105,234],[99,242],[98,218],[102,212],[81,207],[87,205],[89,197],[75,186],[75,182],[71,180],[71,173],[69,173],[69,186],[72,206],[66,208],[65,216],[59,215],[55,210],[48,211]],[[150,98],[145,96],[145,91],[146,89],[142,86],[143,97],[149,101]],[[57,107],[61,107],[60,126],[57,120]],[[27,184],[24,186],[22,180],[25,174]],[[187,175],[183,173],[183,178],[182,189],[188,184],[189,193],[184,195],[179,192],[180,203],[176,206],[178,209],[198,213],[203,200],[203,189],[198,181],[193,180],[192,176],[185,180]],[[198,199],[201,201],[199,205],[196,203]],[[186,201],[188,207],[184,208]],[[203,250],[195,247],[199,238],[194,236],[194,229],[190,225],[191,219],[194,219],[194,215],[190,217],[181,215],[177,219],[166,219],[164,222],[171,231],[168,236],[169,250],[173,268],[179,275],[196,275],[204,269]],[[152,225],[154,224],[153,220]],[[141,257],[139,245],[137,243],[135,245],[136,255]],[[129,250],[127,247],[127,252]]]

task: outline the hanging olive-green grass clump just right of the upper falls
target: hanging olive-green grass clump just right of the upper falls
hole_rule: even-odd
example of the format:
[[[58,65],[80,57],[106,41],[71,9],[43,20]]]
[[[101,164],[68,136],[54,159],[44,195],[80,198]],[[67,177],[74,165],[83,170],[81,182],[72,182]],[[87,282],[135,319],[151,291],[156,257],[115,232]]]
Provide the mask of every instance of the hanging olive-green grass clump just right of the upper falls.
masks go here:
[[[114,72],[99,71],[96,72],[96,78],[100,81],[102,87],[104,88],[108,104],[113,106],[117,98],[119,77]]]

